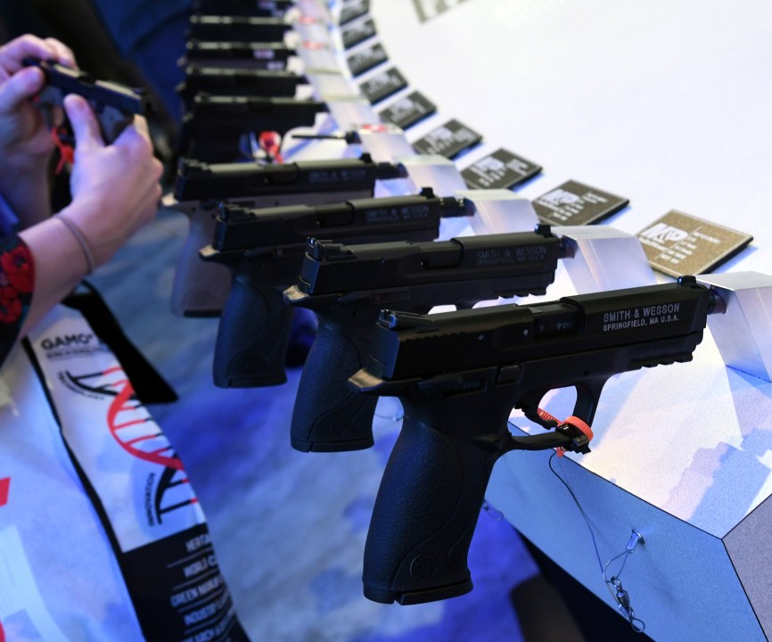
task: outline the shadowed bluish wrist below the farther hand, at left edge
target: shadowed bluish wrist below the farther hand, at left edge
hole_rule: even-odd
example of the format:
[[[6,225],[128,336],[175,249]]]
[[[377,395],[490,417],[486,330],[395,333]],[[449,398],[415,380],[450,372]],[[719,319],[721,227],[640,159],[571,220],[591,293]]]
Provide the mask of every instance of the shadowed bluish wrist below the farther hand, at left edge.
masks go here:
[[[48,163],[42,159],[33,168],[0,162],[0,194],[19,219],[20,229],[51,216]]]

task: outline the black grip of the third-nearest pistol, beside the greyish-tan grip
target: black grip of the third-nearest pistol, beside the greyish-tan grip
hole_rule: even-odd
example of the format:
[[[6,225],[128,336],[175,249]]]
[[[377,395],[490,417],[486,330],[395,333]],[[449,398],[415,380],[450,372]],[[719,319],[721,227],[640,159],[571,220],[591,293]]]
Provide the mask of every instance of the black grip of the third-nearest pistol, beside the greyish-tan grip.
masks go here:
[[[284,383],[292,312],[281,291],[256,277],[234,276],[215,342],[215,385],[258,388]]]

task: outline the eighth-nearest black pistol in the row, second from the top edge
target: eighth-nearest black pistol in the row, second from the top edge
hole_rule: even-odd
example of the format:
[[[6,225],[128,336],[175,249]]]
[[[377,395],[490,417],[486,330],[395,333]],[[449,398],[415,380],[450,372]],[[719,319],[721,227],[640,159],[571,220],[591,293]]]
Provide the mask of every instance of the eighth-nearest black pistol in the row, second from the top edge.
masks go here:
[[[283,18],[192,15],[187,37],[219,42],[283,42],[292,25]]]

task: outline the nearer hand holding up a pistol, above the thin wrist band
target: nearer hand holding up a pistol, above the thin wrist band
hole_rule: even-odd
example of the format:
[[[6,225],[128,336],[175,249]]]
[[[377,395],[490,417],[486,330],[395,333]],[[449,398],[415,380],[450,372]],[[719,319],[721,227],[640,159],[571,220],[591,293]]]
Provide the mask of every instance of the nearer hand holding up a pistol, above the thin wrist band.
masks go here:
[[[72,202],[59,216],[85,237],[95,268],[156,215],[163,166],[153,157],[144,118],[136,116],[107,145],[94,111],[81,96],[67,96],[64,109],[75,135],[75,162],[70,173]]]

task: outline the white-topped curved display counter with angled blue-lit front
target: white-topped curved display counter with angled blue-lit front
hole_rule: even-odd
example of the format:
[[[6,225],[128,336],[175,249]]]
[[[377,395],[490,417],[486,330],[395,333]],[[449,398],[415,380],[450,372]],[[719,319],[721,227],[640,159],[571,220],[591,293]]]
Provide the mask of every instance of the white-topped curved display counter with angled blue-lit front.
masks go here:
[[[515,188],[526,198],[568,180],[620,194],[629,205],[598,225],[631,235],[683,211],[753,237],[717,273],[772,273],[767,4],[401,0],[372,13],[409,83],[378,107],[416,90],[437,105],[408,129],[411,141],[456,119],[482,138],[456,156],[460,169],[503,147],[544,168]],[[608,268],[624,273],[625,261]],[[509,453],[494,467],[489,502],[612,608],[599,561],[640,533],[608,573],[624,561],[630,605],[658,640],[772,637],[770,292],[766,283],[754,304],[760,370],[728,367],[733,330],[709,323],[693,361],[606,384],[592,453],[553,461],[585,515],[548,452]],[[572,293],[561,267],[542,300]],[[571,415],[572,391],[545,403]],[[511,430],[542,429],[514,414]]]

